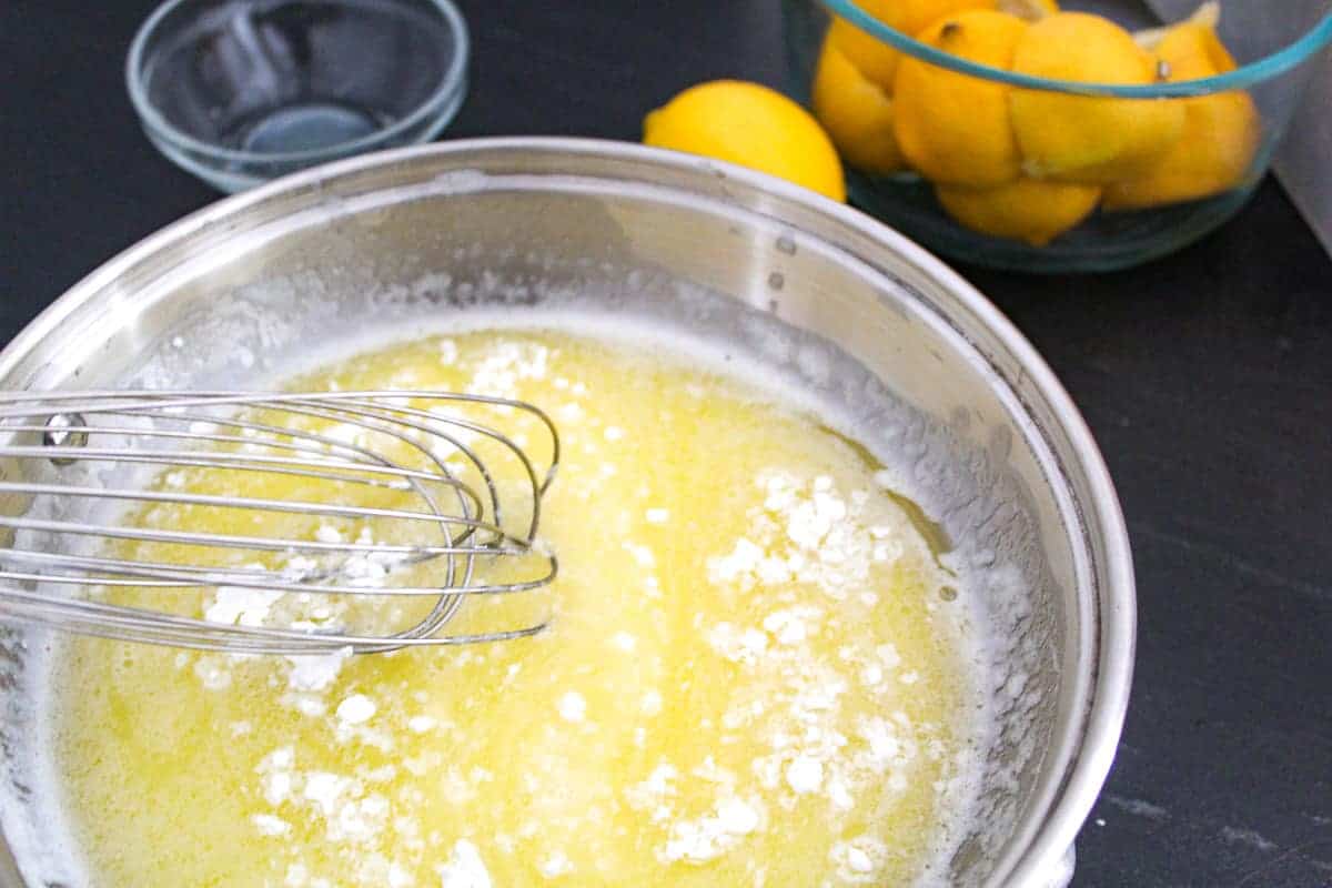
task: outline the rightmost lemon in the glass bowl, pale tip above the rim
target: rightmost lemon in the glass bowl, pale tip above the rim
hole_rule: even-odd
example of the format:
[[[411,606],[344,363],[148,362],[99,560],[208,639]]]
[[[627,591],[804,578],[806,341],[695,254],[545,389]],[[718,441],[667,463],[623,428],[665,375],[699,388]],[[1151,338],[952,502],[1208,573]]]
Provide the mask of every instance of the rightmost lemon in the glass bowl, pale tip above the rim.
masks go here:
[[[1216,36],[1216,7],[1166,29],[1156,57],[1173,81],[1212,77],[1235,69]],[[1146,174],[1106,189],[1107,209],[1142,209],[1227,192],[1248,174],[1261,134],[1257,108],[1247,92],[1181,99],[1184,134]]]

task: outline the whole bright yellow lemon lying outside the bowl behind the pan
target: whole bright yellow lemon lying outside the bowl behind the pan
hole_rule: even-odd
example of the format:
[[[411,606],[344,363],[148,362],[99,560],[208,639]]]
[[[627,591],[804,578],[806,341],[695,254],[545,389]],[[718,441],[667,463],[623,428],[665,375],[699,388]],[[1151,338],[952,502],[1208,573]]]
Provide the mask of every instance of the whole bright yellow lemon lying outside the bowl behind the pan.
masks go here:
[[[846,200],[842,161],[807,111],[739,80],[690,87],[643,120],[643,144],[705,154]]]

